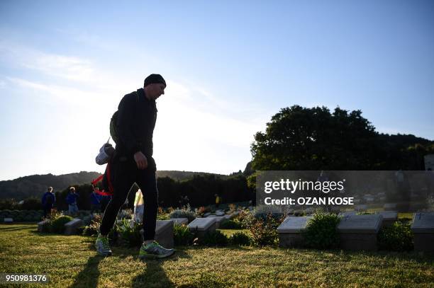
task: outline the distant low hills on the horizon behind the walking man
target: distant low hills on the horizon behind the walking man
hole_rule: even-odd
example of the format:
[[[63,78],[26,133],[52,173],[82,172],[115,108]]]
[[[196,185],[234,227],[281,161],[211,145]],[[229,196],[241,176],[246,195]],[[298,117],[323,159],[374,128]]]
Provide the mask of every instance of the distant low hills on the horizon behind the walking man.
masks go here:
[[[70,185],[89,184],[91,180],[94,180],[99,175],[101,175],[101,173],[82,171],[80,173],[63,175],[30,175],[13,180],[0,181],[0,199],[14,198],[16,200],[23,200],[28,197],[40,197],[50,186],[52,186],[55,191],[60,191],[68,188]],[[216,175],[221,178],[228,177],[228,175],[204,172],[157,171],[157,178],[169,177],[180,181],[193,178],[194,175]]]

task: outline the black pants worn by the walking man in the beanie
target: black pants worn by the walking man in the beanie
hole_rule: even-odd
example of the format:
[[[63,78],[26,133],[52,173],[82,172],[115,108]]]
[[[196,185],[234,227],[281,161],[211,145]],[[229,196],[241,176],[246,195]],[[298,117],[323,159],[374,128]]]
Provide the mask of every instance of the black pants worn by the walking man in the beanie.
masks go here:
[[[140,170],[133,159],[126,157],[114,156],[111,163],[111,172],[113,174],[113,197],[106,207],[102,219],[100,231],[102,235],[109,234],[113,227],[123,203],[128,197],[128,192],[134,183],[142,190],[145,202],[145,212],[143,213],[143,237],[146,240],[152,240],[155,236],[155,224],[157,221],[158,209],[158,190],[157,181],[155,180],[155,161],[152,157],[148,158],[148,168]]]

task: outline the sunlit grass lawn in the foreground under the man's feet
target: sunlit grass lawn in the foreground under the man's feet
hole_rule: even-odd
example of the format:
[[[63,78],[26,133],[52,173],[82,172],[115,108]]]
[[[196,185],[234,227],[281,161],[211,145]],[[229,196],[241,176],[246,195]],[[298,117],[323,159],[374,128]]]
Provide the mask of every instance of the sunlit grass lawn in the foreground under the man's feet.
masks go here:
[[[35,224],[0,224],[0,272],[46,273],[43,287],[433,287],[434,256],[282,248],[177,247],[167,260],[138,260],[94,238],[39,234]]]

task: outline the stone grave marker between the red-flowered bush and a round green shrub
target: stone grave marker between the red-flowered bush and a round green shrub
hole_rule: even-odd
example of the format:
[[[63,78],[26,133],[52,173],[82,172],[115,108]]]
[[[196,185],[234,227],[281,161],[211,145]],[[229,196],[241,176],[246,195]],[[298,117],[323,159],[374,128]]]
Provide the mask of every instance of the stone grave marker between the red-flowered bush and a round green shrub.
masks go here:
[[[301,231],[306,229],[306,224],[311,216],[296,217],[289,216],[277,227],[279,234],[279,246],[284,248],[299,247],[303,244]]]

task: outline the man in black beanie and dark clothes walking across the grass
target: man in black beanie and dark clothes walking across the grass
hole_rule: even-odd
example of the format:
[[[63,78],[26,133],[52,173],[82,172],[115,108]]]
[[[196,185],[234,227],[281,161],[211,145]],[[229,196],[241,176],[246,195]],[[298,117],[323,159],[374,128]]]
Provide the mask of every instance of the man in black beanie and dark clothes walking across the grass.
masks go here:
[[[158,191],[155,180],[157,168],[152,158],[152,134],[157,120],[155,100],[164,95],[165,88],[165,79],[160,74],[151,74],[146,77],[144,88],[123,96],[118,105],[118,143],[111,159],[114,192],[104,212],[95,243],[100,255],[111,255],[107,235],[134,183],[138,184],[145,198],[144,242],[139,258],[165,258],[174,253],[173,249],[163,248],[154,241]]]

